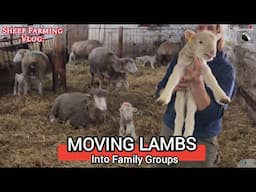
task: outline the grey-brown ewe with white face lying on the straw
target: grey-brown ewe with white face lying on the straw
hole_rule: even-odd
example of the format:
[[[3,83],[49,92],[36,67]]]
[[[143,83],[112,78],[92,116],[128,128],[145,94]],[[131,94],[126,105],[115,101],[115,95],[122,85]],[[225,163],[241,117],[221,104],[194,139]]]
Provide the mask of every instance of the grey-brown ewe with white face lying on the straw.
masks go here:
[[[86,127],[90,123],[102,123],[107,112],[107,91],[92,89],[90,94],[73,92],[59,95],[49,112],[50,122],[56,119],[69,121],[75,128]]]

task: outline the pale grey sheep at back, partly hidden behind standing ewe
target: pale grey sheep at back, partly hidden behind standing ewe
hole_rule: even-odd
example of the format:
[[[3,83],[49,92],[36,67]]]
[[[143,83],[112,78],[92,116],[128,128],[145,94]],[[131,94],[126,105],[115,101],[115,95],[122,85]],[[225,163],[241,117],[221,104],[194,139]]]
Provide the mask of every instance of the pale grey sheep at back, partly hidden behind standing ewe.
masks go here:
[[[87,60],[94,48],[102,46],[103,44],[98,40],[77,41],[72,45],[68,63],[77,64],[78,60]]]

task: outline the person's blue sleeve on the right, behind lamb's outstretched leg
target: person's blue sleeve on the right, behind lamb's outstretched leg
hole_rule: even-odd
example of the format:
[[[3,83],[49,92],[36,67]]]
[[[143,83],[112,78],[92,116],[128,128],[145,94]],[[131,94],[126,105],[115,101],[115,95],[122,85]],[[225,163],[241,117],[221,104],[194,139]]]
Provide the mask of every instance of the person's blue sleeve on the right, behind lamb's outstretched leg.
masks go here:
[[[236,89],[235,71],[232,66],[229,66],[226,70],[220,71],[220,73],[221,74],[217,77],[217,81],[227,96],[232,99]],[[201,123],[210,124],[212,121],[220,119],[223,116],[224,109],[227,108],[227,105],[222,106],[218,104],[212,91],[209,88],[206,89],[211,98],[210,105],[202,111],[197,111],[197,115]]]

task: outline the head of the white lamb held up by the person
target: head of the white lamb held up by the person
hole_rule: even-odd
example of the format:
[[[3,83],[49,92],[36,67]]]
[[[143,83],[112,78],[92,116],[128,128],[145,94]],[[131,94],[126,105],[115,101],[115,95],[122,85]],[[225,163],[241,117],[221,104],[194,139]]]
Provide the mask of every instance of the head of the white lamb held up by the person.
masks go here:
[[[211,31],[201,31],[195,33],[191,30],[185,31],[185,37],[192,47],[195,56],[211,61],[217,52],[217,41],[221,38],[221,34],[214,34]]]

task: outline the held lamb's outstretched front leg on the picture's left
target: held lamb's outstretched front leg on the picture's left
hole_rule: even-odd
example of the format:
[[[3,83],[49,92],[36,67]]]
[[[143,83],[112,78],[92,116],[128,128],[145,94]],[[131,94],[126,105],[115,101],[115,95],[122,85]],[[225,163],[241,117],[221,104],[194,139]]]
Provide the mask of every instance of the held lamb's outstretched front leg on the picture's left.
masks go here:
[[[172,97],[173,89],[176,87],[176,85],[179,83],[181,77],[184,74],[184,66],[179,65],[179,63],[174,67],[173,73],[168,79],[168,82],[162,91],[160,97],[156,100],[156,102],[159,102],[160,104],[167,105]]]

